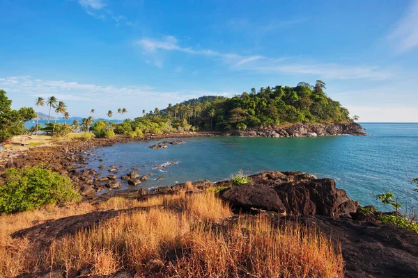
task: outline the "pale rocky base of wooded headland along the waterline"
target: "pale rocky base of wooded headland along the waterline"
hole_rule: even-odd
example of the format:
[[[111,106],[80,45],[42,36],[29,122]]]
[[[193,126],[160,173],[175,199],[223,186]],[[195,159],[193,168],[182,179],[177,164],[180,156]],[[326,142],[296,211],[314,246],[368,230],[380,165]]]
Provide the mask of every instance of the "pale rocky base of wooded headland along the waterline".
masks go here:
[[[364,129],[355,122],[333,124],[296,124],[277,129],[249,129],[237,131],[234,135],[246,137],[316,137],[336,135],[364,136]]]

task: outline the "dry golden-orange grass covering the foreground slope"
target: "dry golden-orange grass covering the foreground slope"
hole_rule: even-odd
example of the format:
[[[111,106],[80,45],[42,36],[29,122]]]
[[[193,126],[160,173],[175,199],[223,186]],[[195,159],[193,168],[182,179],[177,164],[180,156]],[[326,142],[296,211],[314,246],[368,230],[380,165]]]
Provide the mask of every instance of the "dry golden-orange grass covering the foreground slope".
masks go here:
[[[45,220],[133,207],[147,209],[120,212],[46,247],[10,236]],[[297,224],[279,229],[265,215],[231,214],[206,191],[1,215],[0,276],[66,270],[75,277],[88,268],[91,275],[129,270],[137,277],[343,277],[341,251],[323,234]]]

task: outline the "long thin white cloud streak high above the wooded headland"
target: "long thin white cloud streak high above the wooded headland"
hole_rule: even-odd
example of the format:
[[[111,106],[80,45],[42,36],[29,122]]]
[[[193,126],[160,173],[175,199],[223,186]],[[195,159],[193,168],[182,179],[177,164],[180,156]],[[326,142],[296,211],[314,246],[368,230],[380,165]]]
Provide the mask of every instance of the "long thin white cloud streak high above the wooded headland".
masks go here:
[[[136,44],[144,54],[156,54],[157,51],[180,51],[186,54],[212,56],[221,58],[222,62],[231,70],[246,70],[255,73],[312,75],[325,79],[370,79],[384,80],[394,76],[394,72],[376,66],[368,65],[339,65],[336,63],[308,63],[296,58],[268,58],[261,55],[242,56],[238,54],[224,54],[210,49],[196,49],[180,46],[173,36],[166,36],[162,40],[143,38]]]

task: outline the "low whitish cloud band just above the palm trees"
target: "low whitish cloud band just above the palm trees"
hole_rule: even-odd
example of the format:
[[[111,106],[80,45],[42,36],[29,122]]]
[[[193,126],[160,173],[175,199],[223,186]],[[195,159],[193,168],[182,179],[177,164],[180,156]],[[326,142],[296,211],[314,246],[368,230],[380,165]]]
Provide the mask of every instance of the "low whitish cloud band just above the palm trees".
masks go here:
[[[202,95],[232,96],[237,92],[216,92],[202,90],[157,90],[148,85],[97,85],[93,83],[78,83],[76,81],[54,81],[46,79],[34,79],[31,76],[7,76],[0,78],[0,88],[14,96],[20,95],[22,105],[33,106],[36,97],[51,97],[54,95],[59,100],[68,101],[71,115],[85,115],[86,108],[80,101],[88,103],[85,106],[95,106],[98,115],[104,116],[109,109],[115,109],[115,105],[123,105],[131,111],[130,117],[141,115],[139,111],[155,107],[165,107],[169,103],[201,97]],[[85,111],[84,111],[85,110]],[[88,110],[90,111],[90,110]],[[135,113],[137,111],[137,113]]]

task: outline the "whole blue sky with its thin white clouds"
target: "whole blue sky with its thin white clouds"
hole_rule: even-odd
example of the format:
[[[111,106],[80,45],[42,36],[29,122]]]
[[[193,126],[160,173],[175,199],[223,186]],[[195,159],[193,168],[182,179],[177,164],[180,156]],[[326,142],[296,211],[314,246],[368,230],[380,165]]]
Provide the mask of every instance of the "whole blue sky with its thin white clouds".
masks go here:
[[[125,107],[134,118],[322,79],[360,122],[418,122],[418,1],[0,0],[0,10],[0,88],[14,108],[55,95],[72,116]]]

